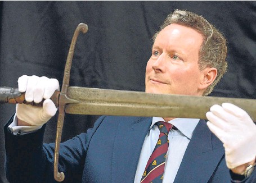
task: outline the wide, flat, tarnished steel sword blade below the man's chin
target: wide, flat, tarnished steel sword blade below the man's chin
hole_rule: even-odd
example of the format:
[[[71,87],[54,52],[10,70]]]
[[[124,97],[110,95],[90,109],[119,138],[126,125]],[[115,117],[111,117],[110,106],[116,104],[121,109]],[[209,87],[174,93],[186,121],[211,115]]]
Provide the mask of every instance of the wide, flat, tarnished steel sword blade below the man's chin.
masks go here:
[[[228,102],[244,109],[256,121],[255,99],[150,94],[77,86],[70,86],[67,95],[78,101],[66,104],[65,112],[70,114],[206,119],[205,113],[213,104]]]

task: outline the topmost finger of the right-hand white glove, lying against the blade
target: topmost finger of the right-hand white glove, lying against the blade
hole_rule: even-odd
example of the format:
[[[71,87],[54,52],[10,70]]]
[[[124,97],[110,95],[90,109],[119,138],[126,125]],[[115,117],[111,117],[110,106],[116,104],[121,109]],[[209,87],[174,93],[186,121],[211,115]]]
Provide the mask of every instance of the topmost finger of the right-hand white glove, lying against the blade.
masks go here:
[[[240,107],[235,106],[234,104],[223,103],[222,108],[224,109],[224,111],[227,111],[228,113],[232,114],[233,116],[239,117],[241,119],[246,118],[246,119],[250,119],[250,121],[253,121],[253,120],[251,120],[251,118],[247,112],[245,112]]]

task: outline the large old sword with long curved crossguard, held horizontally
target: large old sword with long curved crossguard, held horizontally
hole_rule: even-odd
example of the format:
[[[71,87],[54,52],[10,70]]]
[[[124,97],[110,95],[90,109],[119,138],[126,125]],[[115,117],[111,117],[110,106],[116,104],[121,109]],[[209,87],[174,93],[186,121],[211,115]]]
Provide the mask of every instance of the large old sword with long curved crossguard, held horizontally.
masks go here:
[[[256,121],[256,100],[224,97],[199,97],[191,95],[151,94],[124,90],[110,90],[69,86],[71,62],[75,43],[80,31],[86,33],[88,26],[79,24],[74,32],[66,60],[61,92],[55,91],[51,99],[59,107],[57,120],[54,177],[56,181],[64,180],[64,173],[58,172],[59,148],[65,113],[79,115],[112,116],[160,116],[206,119],[205,113],[213,104],[233,103],[244,109],[253,121]],[[25,93],[17,88],[0,88],[0,103],[25,103]]]

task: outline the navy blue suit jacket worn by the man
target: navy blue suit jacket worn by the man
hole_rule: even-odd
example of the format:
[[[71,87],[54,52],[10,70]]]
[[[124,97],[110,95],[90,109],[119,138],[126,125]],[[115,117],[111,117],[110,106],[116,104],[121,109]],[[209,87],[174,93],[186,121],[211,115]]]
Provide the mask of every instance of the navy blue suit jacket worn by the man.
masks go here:
[[[55,182],[54,144],[43,144],[44,127],[12,135],[5,126],[10,182]],[[102,116],[87,133],[61,143],[59,171],[65,182],[133,182],[151,117]],[[231,182],[221,141],[200,120],[174,182]],[[255,171],[246,182],[256,182]]]

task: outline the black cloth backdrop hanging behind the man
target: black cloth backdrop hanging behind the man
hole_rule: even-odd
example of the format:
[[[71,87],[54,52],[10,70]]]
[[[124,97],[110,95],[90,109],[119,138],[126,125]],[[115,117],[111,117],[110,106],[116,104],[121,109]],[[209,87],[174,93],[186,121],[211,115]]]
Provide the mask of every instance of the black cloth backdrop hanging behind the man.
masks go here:
[[[211,95],[256,98],[256,2],[254,1],[38,1],[1,2],[0,86],[17,87],[21,75],[62,81],[76,26],[85,22],[71,68],[70,85],[144,90],[151,37],[174,9],[186,9],[212,22],[228,40],[228,72]],[[15,105],[0,105],[3,126]],[[98,116],[66,115],[62,140],[93,126]],[[56,117],[44,139],[55,140]],[[3,130],[0,131],[3,139]],[[0,144],[0,176],[5,147]],[[19,155],[19,154],[17,154]],[[22,167],[21,167],[22,168]],[[15,176],[15,175],[14,175]]]

